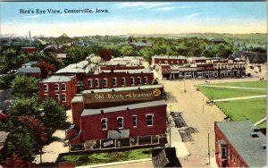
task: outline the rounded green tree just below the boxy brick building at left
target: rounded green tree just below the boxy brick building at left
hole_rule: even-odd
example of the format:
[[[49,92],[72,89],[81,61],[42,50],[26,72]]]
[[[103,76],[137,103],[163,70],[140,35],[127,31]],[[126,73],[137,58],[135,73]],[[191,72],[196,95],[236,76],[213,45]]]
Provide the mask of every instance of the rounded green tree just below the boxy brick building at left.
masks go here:
[[[46,98],[41,106],[45,113],[41,121],[44,122],[46,128],[50,129],[49,133],[64,126],[67,116],[62,105],[52,98]]]

